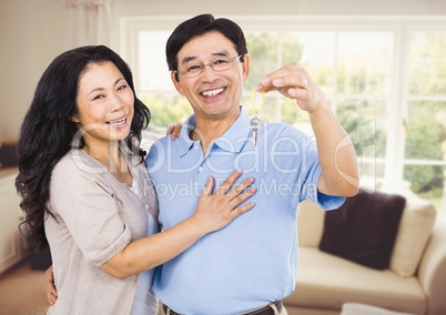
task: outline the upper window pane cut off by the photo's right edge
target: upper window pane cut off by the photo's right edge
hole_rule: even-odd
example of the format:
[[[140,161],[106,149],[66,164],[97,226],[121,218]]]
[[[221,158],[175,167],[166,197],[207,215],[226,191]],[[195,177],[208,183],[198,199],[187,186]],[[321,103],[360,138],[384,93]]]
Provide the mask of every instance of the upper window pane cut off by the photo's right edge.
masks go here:
[[[410,94],[446,95],[446,32],[410,34]]]

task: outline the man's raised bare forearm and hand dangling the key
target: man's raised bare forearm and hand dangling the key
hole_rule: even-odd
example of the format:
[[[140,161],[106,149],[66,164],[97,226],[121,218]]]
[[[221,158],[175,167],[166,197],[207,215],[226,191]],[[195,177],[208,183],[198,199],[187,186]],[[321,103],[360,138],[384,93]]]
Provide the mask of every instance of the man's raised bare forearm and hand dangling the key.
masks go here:
[[[282,67],[267,74],[257,91],[278,91],[296,100],[301,110],[308,112],[322,166],[318,191],[330,195],[355,195],[359,173],[352,140],[304,68],[296,63]]]

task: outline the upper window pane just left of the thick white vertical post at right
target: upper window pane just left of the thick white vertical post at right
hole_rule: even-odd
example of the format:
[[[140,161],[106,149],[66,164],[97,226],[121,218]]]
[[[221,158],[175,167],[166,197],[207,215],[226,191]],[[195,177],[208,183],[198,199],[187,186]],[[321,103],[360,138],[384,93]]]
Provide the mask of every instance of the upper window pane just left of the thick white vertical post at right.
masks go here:
[[[389,93],[393,44],[393,32],[338,32],[337,92]]]

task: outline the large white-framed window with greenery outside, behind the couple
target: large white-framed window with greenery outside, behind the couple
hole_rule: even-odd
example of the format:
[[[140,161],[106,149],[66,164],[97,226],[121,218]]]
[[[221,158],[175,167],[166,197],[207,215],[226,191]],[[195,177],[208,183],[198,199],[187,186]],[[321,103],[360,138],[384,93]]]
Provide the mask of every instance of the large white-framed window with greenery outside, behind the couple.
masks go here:
[[[264,74],[298,62],[325,92],[355,142],[362,182],[402,186],[446,207],[446,22],[420,19],[234,18],[245,30],[250,114]],[[125,20],[123,44],[138,92],[152,111],[152,134],[192,111],[170,80],[165,41],[182,19]],[[130,51],[129,48],[138,48]],[[307,114],[277,93],[259,112],[312,133]],[[156,128],[158,126],[158,128]]]

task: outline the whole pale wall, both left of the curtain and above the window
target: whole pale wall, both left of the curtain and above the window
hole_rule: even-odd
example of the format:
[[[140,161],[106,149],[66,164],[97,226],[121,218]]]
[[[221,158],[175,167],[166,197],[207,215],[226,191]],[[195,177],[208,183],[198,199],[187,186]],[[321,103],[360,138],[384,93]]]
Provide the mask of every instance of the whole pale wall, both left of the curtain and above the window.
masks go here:
[[[293,3],[293,4],[290,4]],[[114,0],[111,48],[120,18],[182,16],[446,16],[445,0]],[[17,139],[36,84],[54,57],[68,49],[68,9],[62,0],[0,0],[0,141]]]

